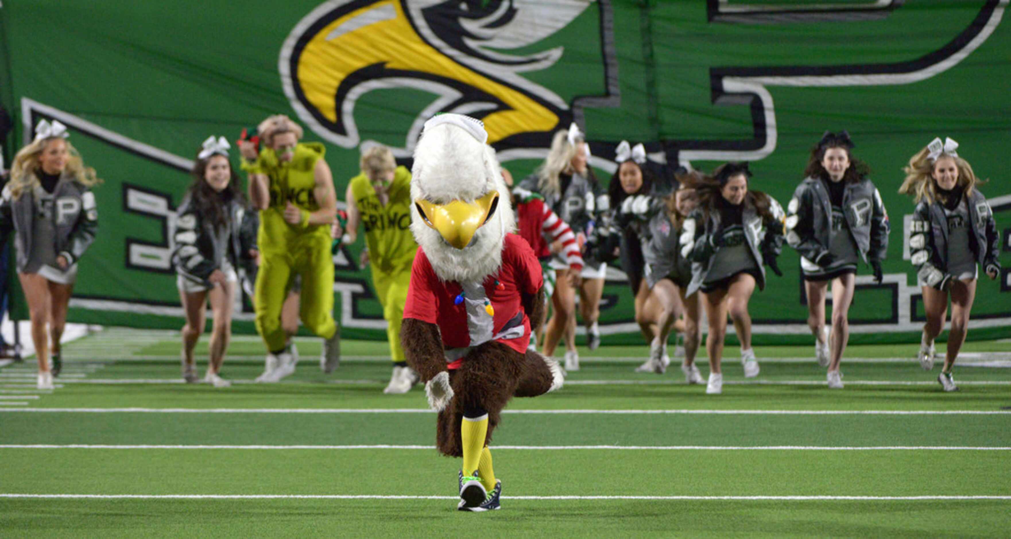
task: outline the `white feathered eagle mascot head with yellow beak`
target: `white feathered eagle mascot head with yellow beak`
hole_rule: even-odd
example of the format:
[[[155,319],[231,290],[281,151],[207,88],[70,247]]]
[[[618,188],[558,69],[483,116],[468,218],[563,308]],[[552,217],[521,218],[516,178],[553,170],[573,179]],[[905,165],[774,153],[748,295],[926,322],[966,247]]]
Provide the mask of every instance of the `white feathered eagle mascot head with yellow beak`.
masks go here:
[[[462,114],[425,122],[411,169],[410,232],[444,281],[481,282],[501,266],[516,227],[484,123]]]

